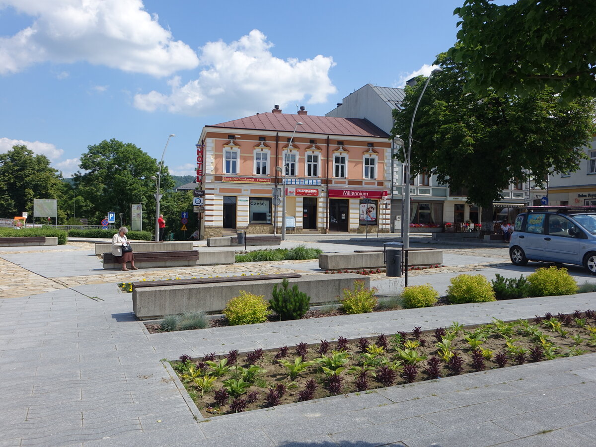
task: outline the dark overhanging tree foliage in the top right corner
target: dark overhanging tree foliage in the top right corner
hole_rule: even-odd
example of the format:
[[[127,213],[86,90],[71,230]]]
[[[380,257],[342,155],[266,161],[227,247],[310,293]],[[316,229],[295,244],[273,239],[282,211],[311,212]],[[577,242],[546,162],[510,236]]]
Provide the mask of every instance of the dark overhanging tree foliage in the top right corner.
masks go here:
[[[525,95],[551,88],[561,98],[596,97],[594,0],[465,0],[459,45],[449,54],[468,64],[467,88]]]

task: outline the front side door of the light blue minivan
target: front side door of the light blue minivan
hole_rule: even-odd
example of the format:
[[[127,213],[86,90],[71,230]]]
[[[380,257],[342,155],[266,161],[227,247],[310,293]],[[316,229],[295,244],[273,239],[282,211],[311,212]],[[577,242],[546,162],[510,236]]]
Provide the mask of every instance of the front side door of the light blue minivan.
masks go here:
[[[551,214],[547,216],[544,235],[544,259],[552,262],[578,262],[581,240],[574,237],[569,229],[575,225],[566,216]]]

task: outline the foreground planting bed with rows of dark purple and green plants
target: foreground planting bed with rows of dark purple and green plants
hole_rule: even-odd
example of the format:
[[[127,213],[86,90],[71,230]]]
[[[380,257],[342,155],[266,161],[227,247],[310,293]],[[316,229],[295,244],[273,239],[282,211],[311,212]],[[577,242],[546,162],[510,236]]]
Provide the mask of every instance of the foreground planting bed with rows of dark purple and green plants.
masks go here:
[[[435,331],[204,353],[170,363],[201,414],[213,417],[596,352],[595,322],[593,311],[470,327],[454,322]],[[307,364],[297,367],[302,361]]]

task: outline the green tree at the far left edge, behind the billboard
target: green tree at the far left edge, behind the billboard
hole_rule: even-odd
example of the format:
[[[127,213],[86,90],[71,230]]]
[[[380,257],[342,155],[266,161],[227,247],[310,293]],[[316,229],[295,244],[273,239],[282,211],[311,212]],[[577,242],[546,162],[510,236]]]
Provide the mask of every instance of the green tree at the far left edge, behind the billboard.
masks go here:
[[[0,154],[0,216],[13,218],[22,212],[33,214],[33,199],[63,198],[63,183],[48,157],[34,155],[25,145],[14,145]]]

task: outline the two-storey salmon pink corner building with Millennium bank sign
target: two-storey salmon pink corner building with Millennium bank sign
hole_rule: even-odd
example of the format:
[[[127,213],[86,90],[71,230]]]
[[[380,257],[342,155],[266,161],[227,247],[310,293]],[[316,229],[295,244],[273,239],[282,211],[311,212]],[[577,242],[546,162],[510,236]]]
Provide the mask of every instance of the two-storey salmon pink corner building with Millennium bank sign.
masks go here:
[[[201,235],[279,234],[284,190],[288,234],[389,232],[391,166],[389,135],[366,119],[275,106],[204,126],[197,143]]]

